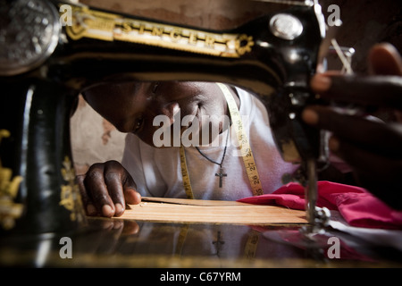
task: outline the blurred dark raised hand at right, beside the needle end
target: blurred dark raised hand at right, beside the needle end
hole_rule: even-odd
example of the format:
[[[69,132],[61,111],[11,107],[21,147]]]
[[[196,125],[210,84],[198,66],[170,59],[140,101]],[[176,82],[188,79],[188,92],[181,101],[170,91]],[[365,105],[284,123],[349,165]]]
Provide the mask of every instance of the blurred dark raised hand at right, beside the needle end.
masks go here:
[[[388,44],[374,46],[369,56],[372,75],[317,74],[311,88],[331,102],[353,104],[364,116],[331,106],[307,106],[303,120],[333,134],[331,152],[348,162],[357,180],[389,206],[402,207],[402,60]],[[366,115],[386,108],[392,121]]]

